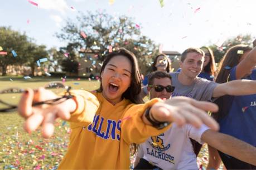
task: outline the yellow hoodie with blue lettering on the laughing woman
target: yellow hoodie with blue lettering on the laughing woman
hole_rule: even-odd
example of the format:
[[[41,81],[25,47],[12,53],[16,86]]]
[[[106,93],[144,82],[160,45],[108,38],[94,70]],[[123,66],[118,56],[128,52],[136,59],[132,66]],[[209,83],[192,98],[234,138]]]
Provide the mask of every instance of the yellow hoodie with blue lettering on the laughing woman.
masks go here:
[[[86,96],[91,96],[91,93],[78,90],[73,94],[78,108],[71,114],[70,144],[59,169],[129,169],[130,144],[143,143],[148,137],[170,128],[158,130],[142,122],[146,108],[160,99],[145,104],[133,104],[123,99],[113,105],[102,93],[94,93],[96,98],[90,97],[89,102]],[[95,111],[88,113],[88,104],[91,103],[99,106],[96,114]],[[91,114],[95,114],[93,123],[88,123],[86,115],[91,117]]]

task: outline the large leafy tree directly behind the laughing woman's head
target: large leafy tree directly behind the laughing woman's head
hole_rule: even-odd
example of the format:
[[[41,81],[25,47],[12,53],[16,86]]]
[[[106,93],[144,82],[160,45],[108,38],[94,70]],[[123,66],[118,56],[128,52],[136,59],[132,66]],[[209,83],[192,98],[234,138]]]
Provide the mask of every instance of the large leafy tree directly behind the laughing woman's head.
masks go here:
[[[127,48],[136,54],[143,72],[147,71],[145,62],[150,62],[151,55],[157,51],[151,39],[141,36],[140,26],[132,18],[113,17],[104,12],[80,12],[76,21],[69,19],[56,36],[61,41],[69,41],[69,45],[74,44],[74,50],[82,48],[93,52],[100,62],[105,54],[120,47]]]

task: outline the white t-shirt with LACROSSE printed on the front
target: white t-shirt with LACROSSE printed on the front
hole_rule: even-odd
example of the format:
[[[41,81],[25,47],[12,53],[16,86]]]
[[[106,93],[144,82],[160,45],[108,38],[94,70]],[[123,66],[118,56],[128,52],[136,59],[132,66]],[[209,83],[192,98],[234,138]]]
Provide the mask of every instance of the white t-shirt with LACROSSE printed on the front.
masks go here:
[[[178,127],[173,123],[165,133],[139,144],[138,157],[162,169],[198,169],[190,138],[203,144],[201,135],[207,129],[205,124],[197,129],[190,124]]]

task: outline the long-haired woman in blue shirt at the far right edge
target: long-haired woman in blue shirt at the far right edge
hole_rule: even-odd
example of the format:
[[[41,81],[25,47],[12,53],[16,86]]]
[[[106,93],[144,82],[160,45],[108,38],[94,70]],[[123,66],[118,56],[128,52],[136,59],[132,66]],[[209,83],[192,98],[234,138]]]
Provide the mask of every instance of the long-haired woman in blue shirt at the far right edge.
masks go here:
[[[255,41],[254,41],[255,42]],[[220,62],[217,83],[256,80],[256,47],[236,45],[228,49]],[[240,87],[236,87],[239,89]],[[250,87],[247,87],[250,88]],[[215,101],[220,107],[216,119],[220,132],[234,136],[256,146],[256,94],[226,95]],[[227,169],[256,169],[256,166],[245,163],[219,151]]]

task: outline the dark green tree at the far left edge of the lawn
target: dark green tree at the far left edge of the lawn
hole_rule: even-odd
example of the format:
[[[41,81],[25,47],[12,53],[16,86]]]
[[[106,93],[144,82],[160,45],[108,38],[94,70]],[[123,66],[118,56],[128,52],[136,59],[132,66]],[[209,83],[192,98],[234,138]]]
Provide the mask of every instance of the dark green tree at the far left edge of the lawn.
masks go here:
[[[0,46],[6,56],[0,55],[0,67],[2,67],[2,76],[6,75],[6,68],[9,65],[20,65],[26,62],[27,46],[30,44],[29,38],[25,33],[13,31],[11,27],[0,27]],[[17,56],[13,56],[12,50]]]

